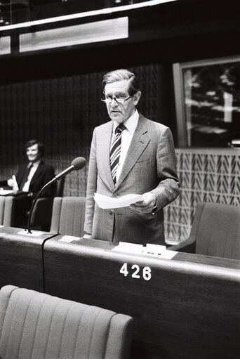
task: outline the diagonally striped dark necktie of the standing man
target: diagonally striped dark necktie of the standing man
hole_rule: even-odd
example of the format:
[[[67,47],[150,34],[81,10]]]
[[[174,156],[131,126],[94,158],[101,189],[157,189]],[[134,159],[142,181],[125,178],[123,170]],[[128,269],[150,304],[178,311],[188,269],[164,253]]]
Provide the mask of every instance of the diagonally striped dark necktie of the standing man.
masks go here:
[[[115,129],[114,139],[112,141],[111,150],[110,150],[110,166],[112,171],[112,179],[116,183],[116,169],[119,164],[119,157],[121,152],[121,133],[126,127],[124,124],[119,124]]]

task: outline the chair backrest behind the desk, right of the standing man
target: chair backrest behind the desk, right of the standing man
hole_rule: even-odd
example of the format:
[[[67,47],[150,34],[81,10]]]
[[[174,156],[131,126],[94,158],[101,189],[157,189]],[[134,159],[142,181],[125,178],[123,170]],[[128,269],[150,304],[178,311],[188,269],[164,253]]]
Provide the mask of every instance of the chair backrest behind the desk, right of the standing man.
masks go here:
[[[196,254],[240,259],[240,207],[199,202],[190,237],[196,238]]]

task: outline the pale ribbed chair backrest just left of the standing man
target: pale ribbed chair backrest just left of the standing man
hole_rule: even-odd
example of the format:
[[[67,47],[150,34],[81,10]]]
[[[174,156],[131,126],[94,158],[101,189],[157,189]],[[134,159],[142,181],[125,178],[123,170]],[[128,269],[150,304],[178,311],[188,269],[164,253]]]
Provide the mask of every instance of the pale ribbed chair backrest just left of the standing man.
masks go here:
[[[84,235],[86,197],[55,197],[51,232],[61,235]]]

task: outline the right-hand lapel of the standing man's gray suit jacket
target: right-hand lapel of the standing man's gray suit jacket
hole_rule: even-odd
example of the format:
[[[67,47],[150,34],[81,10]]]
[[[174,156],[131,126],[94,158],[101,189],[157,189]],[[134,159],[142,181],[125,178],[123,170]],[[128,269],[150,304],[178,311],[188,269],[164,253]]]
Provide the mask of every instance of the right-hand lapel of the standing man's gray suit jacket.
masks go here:
[[[138,126],[133,134],[133,139],[128,148],[128,153],[126,155],[124,166],[123,169],[121,170],[119,181],[117,181],[115,189],[117,189],[121,184],[121,182],[124,181],[129,171],[131,171],[135,163],[138,161],[140,155],[142,155],[142,152],[147,147],[149,141],[150,138],[147,133],[147,119],[145,119],[145,117],[140,115],[138,120]]]

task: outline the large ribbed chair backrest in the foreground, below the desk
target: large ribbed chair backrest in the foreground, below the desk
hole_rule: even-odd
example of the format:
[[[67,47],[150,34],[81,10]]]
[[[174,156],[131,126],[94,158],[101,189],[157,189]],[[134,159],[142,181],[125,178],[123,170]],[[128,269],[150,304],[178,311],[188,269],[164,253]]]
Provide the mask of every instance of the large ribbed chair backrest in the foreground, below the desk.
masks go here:
[[[6,285],[0,291],[1,359],[126,359],[133,318]]]

